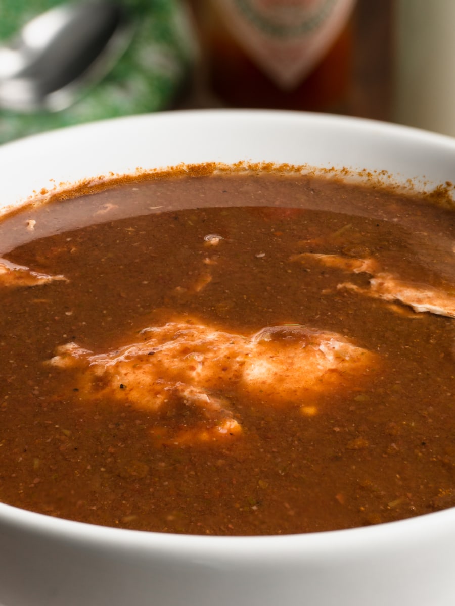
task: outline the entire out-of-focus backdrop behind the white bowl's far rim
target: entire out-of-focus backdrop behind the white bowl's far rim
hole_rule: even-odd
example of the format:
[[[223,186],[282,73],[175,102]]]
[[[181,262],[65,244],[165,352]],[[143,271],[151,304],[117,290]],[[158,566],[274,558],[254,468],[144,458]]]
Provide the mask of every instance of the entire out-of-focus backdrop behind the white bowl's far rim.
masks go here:
[[[453,0],[2,0],[0,143],[183,108],[455,135]]]

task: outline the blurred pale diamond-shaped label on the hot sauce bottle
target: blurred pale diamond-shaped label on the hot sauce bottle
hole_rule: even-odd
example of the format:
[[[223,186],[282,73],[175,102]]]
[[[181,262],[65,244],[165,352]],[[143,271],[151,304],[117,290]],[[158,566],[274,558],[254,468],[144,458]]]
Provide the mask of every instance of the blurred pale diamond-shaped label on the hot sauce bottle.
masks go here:
[[[297,86],[328,52],[355,0],[215,0],[226,28],[284,90]]]

